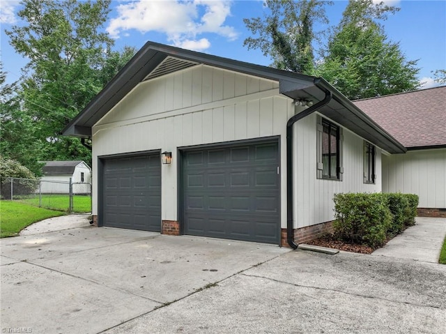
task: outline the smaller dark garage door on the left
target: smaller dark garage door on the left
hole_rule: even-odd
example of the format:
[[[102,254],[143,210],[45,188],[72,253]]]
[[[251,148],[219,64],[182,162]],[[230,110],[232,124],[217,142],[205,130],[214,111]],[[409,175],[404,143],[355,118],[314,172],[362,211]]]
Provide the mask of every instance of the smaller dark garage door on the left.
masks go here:
[[[102,160],[104,226],[161,230],[160,155]]]

